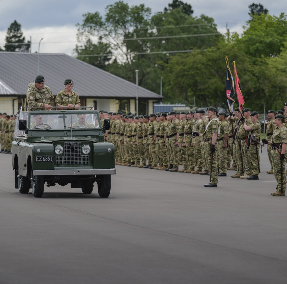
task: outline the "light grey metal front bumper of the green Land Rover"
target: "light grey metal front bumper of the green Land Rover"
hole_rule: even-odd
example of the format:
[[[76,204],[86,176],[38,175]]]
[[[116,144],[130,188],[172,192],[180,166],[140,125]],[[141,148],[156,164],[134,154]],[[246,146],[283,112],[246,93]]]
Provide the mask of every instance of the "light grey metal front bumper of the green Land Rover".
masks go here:
[[[33,171],[33,175],[107,175],[116,174],[114,168],[111,169],[42,169]]]

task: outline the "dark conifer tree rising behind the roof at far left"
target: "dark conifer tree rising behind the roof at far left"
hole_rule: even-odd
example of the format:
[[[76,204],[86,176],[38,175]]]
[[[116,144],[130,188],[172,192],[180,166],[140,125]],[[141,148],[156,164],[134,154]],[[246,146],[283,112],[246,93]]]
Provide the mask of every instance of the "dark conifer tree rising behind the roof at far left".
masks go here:
[[[30,43],[25,43],[25,36],[23,36],[23,32],[21,30],[21,25],[15,20],[11,23],[7,30],[6,36],[6,44],[5,44],[5,51],[20,51],[22,47],[29,46]],[[27,49],[27,48],[23,48]],[[22,50],[23,50],[22,49]]]

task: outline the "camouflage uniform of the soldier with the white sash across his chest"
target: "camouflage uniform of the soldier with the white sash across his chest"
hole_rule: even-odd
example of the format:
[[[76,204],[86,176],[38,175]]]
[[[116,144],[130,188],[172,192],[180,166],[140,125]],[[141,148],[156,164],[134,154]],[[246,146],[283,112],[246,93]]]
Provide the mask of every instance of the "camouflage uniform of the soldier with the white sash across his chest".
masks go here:
[[[213,153],[213,159],[212,159],[212,165],[211,165],[211,144],[212,144],[212,135],[213,133],[218,133],[218,127],[219,127],[219,120],[218,118],[213,118],[210,120],[210,123],[207,126],[207,129],[205,131],[205,133],[203,134],[203,141],[204,141],[204,151],[205,151],[205,155],[207,157],[207,162],[208,162],[208,166],[209,168],[211,168],[212,166],[212,172],[211,174],[211,183],[212,184],[216,184],[217,185],[217,162],[216,162],[216,155],[217,155],[217,147],[215,152]]]

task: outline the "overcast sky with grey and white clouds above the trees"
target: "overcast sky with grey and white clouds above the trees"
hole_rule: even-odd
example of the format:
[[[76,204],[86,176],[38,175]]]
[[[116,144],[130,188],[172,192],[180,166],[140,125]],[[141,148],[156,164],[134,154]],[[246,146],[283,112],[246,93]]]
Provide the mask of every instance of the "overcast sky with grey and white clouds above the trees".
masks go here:
[[[26,40],[32,38],[32,52],[66,53],[72,55],[76,45],[76,24],[82,23],[86,12],[98,11],[102,16],[105,8],[116,0],[0,0],[0,46],[5,44],[5,36],[10,24],[16,20],[22,26]],[[124,0],[130,6],[144,3],[152,14],[163,11],[172,0]],[[287,0],[183,0],[194,11],[193,16],[201,14],[214,18],[221,33],[243,31],[242,26],[249,19],[248,6],[261,3],[271,15],[287,14]]]

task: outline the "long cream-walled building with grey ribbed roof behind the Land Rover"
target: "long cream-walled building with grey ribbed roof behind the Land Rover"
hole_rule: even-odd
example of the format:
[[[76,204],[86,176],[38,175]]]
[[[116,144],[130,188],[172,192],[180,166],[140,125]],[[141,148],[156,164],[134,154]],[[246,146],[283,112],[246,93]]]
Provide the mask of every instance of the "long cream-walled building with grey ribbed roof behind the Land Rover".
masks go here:
[[[64,80],[74,80],[73,91],[82,106],[98,110],[136,112],[137,86],[102,69],[66,54],[0,52],[0,111],[16,113],[26,105],[28,84],[39,74],[45,77],[56,96],[64,89]],[[153,103],[163,97],[138,87],[139,114],[153,112]]]

